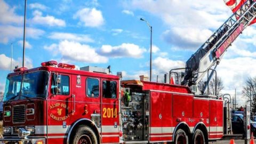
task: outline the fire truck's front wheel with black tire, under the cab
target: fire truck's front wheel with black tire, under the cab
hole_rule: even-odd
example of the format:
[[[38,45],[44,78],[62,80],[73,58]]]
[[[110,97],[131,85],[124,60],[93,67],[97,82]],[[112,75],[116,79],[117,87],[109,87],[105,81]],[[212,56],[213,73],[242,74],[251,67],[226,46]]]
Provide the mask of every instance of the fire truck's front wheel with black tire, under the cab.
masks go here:
[[[73,138],[73,144],[98,144],[97,136],[91,129],[86,125],[81,125],[77,128]]]

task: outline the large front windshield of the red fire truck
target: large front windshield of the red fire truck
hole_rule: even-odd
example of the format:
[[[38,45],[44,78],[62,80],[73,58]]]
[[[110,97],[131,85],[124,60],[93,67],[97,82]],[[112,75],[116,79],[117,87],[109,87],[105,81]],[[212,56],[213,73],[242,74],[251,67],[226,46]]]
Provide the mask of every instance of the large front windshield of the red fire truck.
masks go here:
[[[21,75],[8,77],[6,81],[4,101],[20,99],[45,98],[47,91],[47,81],[49,73],[47,71],[36,71]],[[22,79],[22,81],[21,81]]]

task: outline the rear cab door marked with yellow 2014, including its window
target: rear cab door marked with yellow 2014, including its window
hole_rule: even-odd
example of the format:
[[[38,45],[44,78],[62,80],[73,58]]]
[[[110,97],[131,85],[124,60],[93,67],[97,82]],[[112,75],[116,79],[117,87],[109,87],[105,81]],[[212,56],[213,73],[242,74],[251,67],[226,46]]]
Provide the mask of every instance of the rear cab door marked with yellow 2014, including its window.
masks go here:
[[[118,117],[118,86],[116,79],[104,79],[101,81],[101,111],[102,111],[102,143],[119,142],[119,117]]]

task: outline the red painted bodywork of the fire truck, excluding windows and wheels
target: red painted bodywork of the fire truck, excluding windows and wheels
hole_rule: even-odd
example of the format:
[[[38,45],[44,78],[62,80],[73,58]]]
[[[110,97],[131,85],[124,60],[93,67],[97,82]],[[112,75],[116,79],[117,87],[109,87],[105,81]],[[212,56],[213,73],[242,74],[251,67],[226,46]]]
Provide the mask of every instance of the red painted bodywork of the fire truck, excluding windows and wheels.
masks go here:
[[[35,103],[35,119],[28,116],[25,124],[47,126],[47,131],[34,136],[46,137],[46,143],[65,143],[68,128],[81,118],[92,119],[92,115],[100,114],[101,127],[98,129],[101,143],[118,143],[119,129],[119,102],[117,86],[117,98],[102,98],[102,81],[116,81],[119,85],[119,77],[113,75],[91,73],[81,70],[70,70],[55,67],[39,67],[12,73],[9,75],[22,74],[27,71],[47,70],[61,75],[69,76],[69,94],[52,95],[49,86],[48,97],[45,100],[19,100],[12,101],[5,106]],[[81,77],[81,84],[77,84],[77,75]],[[86,95],[86,78],[97,78],[99,80],[99,97],[92,98]],[[49,81],[51,85],[51,80]],[[187,86],[162,84],[142,81],[143,86],[138,89],[149,93],[150,97],[150,122],[149,138],[154,141],[172,141],[175,134],[175,127],[180,123],[186,123],[190,132],[193,132],[198,123],[203,123],[209,129],[210,139],[222,137],[223,127],[223,101],[214,99],[196,98]],[[134,86],[134,85],[133,85]],[[136,87],[136,86],[134,86]],[[75,97],[74,97],[75,96]],[[28,108],[33,107],[28,105]],[[115,115],[115,109],[116,115]],[[5,119],[8,120],[8,119]],[[4,121],[5,126],[20,126]],[[65,128],[64,125],[67,125]],[[54,127],[55,126],[55,127]],[[63,127],[62,127],[63,126]],[[56,128],[57,127],[57,128]],[[98,131],[95,133],[98,133]]]

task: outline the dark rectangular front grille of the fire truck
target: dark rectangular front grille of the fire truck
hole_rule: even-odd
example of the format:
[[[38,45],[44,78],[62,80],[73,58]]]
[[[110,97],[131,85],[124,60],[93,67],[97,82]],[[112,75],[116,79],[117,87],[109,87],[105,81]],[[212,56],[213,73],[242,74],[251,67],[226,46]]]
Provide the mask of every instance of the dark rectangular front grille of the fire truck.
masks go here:
[[[25,123],[25,105],[13,106],[13,123]]]

